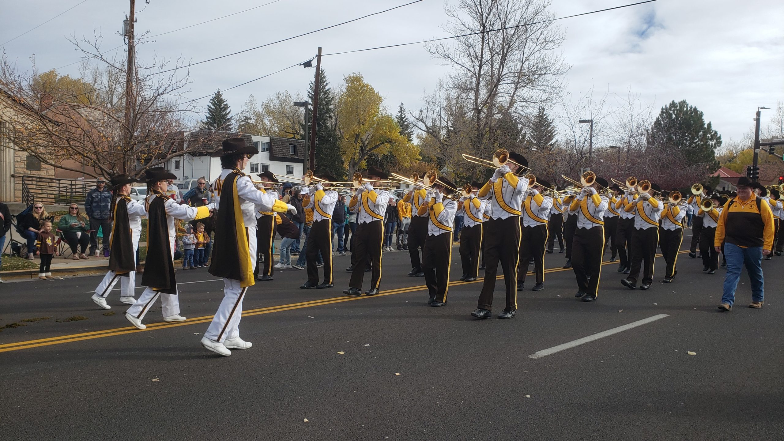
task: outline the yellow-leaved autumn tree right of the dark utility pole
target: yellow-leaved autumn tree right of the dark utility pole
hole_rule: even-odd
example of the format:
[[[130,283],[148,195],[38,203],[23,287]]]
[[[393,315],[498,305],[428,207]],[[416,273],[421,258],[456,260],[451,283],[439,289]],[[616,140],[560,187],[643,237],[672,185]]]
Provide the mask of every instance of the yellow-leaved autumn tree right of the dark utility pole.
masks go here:
[[[383,97],[376,89],[361,74],[346,75],[343,80],[343,93],[337,100],[336,129],[348,176],[364,168],[371,153],[379,156],[391,153],[402,167],[418,161],[419,148],[401,135],[400,127],[383,107]]]

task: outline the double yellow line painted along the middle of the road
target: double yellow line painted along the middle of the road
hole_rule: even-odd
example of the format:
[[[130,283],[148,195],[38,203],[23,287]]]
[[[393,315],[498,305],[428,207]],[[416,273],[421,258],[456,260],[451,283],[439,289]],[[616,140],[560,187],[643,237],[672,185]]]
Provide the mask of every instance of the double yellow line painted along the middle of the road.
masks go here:
[[[681,253],[688,253],[688,250],[681,251]],[[661,256],[658,254],[657,256]],[[613,262],[602,262],[603,265],[612,264]],[[546,273],[550,272],[562,272],[562,271],[572,271],[572,268],[551,268],[545,270]],[[529,275],[532,275],[533,272],[529,272]],[[503,275],[499,275],[496,279],[502,279]],[[468,285],[470,283],[479,283],[483,282],[483,279],[477,279],[474,282],[460,282],[456,280],[454,282],[449,282],[449,286],[460,286],[460,285]],[[381,297],[381,296],[390,296],[393,294],[401,294],[401,293],[412,293],[415,291],[422,291],[426,290],[427,286],[419,285],[419,286],[408,286],[405,288],[398,288],[396,290],[386,290],[381,291],[375,296],[372,297]],[[242,312],[243,317],[249,317],[251,315],[261,315],[261,314],[270,314],[271,312],[283,312],[283,311],[291,311],[292,309],[299,309],[299,308],[311,308],[314,306],[321,306],[322,304],[333,304],[333,303],[341,303],[344,301],[356,301],[360,299],[372,298],[368,296],[341,296],[341,297],[331,297],[327,299],[315,300],[315,301],[303,301],[300,303],[292,303],[292,304],[281,304],[278,306],[270,306],[267,308],[256,308],[256,309],[249,309]],[[147,325],[146,330],[136,329],[133,326],[126,326],[124,328],[114,328],[111,330],[97,330],[93,332],[85,332],[85,333],[74,333],[70,335],[63,335],[60,337],[48,337],[48,338],[41,338],[38,340],[28,340],[28,341],[17,341],[16,343],[6,343],[0,344],[0,352],[9,352],[9,351],[18,351],[20,349],[31,349],[31,348],[40,348],[42,346],[49,346],[52,344],[63,344],[63,343],[72,343],[74,341],[83,341],[83,340],[92,340],[93,338],[103,338],[103,337],[115,337],[118,335],[123,335],[126,333],[137,333],[137,332],[145,332],[150,330],[162,330],[162,329],[169,329],[176,326],[188,326],[188,325],[195,325],[198,323],[209,323],[212,322],[213,315],[203,315],[201,317],[196,317],[194,319],[187,319],[184,322],[161,322],[161,323],[151,323]]]

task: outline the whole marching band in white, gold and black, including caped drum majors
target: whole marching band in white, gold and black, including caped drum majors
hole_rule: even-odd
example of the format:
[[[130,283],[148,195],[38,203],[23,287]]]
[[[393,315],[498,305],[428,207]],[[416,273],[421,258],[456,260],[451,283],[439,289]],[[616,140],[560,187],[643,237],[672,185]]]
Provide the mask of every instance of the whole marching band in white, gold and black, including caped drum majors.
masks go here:
[[[135,179],[120,175],[112,179],[115,198],[112,205],[114,228],[111,233],[110,271],[96,288],[92,300],[100,308],[111,308],[107,293],[122,280],[120,300],[132,304],[126,319],[144,329],[144,315],[158,298],[162,298],[165,321],[182,321],[172,264],[176,223],[211,215],[216,217],[215,246],[209,272],[223,278],[224,297],[216,315],[204,334],[201,344],[212,352],[230,355],[230,348],[252,346],[239,337],[242,299],[256,280],[271,280],[274,272],[273,248],[276,225],[281,213],[296,213],[296,207],[279,199],[275,190],[281,180],[269,171],[252,180],[241,172],[257,152],[242,138],[223,141],[220,155],[223,171],[212,187],[215,202],[209,206],[180,206],[165,195],[165,183],[173,175],[164,169],[148,169],[145,180],[150,191],[143,204],[129,198],[129,186]],[[355,173],[350,182],[337,182],[335,177],[312,172],[294,182],[302,188],[302,207],[313,213],[313,224],[307,235],[305,254],[307,281],[301,289],[332,288],[332,212],[339,195],[350,195],[348,210],[356,214],[358,227],[352,237],[349,296],[363,294],[365,272],[370,285],[365,295],[379,293],[382,279],[384,216],[386,210],[408,213],[410,224],[401,226],[402,242],[398,250],[408,250],[411,261],[409,276],[423,277],[429,294],[427,303],[433,307],[447,304],[452,242],[456,239],[455,217],[463,217],[459,231],[460,282],[476,282],[483,277],[477,308],[471,315],[477,319],[492,317],[493,294],[499,264],[503,272],[506,301],[499,319],[517,315],[517,292],[524,290],[529,265],[533,264],[535,284],[532,291],[544,289],[545,253],[553,253],[555,239],[561,253],[566,253],[564,268],[572,268],[577,282],[575,297],[593,302],[598,298],[605,248],[609,246],[609,262],[619,259],[618,272],[626,275],[623,286],[650,290],[654,280],[657,250],[666,262],[662,282],[671,283],[677,275],[677,257],[681,253],[684,229],[691,219],[692,239],[689,256],[702,257],[702,271],[714,274],[718,257],[724,251],[714,242],[724,240],[725,232],[717,235],[723,210],[733,201],[729,192],[711,191],[702,184],[691,187],[688,199],[678,190],[662,191],[658,184],[628,177],[612,179],[612,184],[596,173],[586,171],[578,180],[562,176],[568,188],[536,177],[528,160],[516,152],[501,148],[492,160],[463,155],[466,161],[494,169],[485,184],[473,181],[456,188],[445,176],[432,169],[419,177],[412,173],[402,177],[388,175],[383,169],[369,166],[365,173]],[[350,184],[350,185],[340,185]],[[411,190],[402,195],[397,206],[391,189],[409,184]],[[289,185],[289,184],[287,184]],[[775,223],[775,255],[782,254],[784,218],[780,186],[765,188],[750,184],[757,201],[770,207]],[[767,210],[767,208],[766,208]],[[758,209],[758,213],[764,210]],[[147,271],[142,284],[147,289],[136,300],[135,259],[133,250],[139,242],[141,217],[148,218]],[[393,232],[394,234],[394,232]],[[407,245],[407,246],[406,246]],[[718,245],[718,244],[716,244]],[[391,250],[391,247],[387,247]],[[421,254],[420,254],[421,250]],[[770,258],[767,255],[765,258]],[[318,262],[323,259],[323,277]],[[482,275],[481,262],[485,272]],[[557,270],[563,271],[563,270]],[[761,301],[760,301],[761,305]],[[731,305],[730,305],[731,307]]]

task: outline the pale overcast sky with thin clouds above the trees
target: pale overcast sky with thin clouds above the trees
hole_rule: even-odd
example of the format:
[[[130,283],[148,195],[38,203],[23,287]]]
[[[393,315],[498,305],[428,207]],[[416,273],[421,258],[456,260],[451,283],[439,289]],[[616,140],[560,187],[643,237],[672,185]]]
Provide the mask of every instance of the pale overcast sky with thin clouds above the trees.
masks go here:
[[[79,53],[70,35],[103,35],[103,49],[122,45],[122,20],[129,2],[107,0],[0,0],[0,44],[42,24],[71,6],[67,13],[28,32],[2,49],[20,67],[38,71],[58,68],[78,75]],[[457,0],[448,0],[456,3]],[[246,13],[153,38],[140,46],[140,60],[153,56],[192,62],[248,49],[319,27],[374,13],[406,0],[136,0],[136,33],[172,31],[253,6]],[[604,9],[633,0],[553,0],[555,16]],[[316,53],[385,46],[445,36],[445,3],[424,0],[389,13],[256,49],[223,60],[191,67],[191,97],[227,89],[277,71]],[[146,9],[145,9],[146,8]],[[144,10],[141,10],[144,9]],[[628,89],[654,104],[655,113],[670,100],[688,100],[724,140],[738,139],[753,124],[757,106],[775,108],[784,100],[784,2],[779,0],[659,0],[557,23],[565,32],[561,50],[571,65],[567,92],[585,92],[592,85],[626,96]],[[118,57],[124,57],[118,49]],[[326,56],[326,74],[337,86],[343,75],[360,72],[385,97],[416,111],[423,93],[434,89],[447,72],[421,45],[365,53]],[[62,67],[60,69],[60,67]],[[278,90],[304,93],[313,69],[296,67],[227,91],[232,111],[240,111],[252,94],[258,100]],[[206,105],[208,99],[201,100]],[[557,109],[554,109],[557,112]],[[773,110],[763,111],[763,123]]]

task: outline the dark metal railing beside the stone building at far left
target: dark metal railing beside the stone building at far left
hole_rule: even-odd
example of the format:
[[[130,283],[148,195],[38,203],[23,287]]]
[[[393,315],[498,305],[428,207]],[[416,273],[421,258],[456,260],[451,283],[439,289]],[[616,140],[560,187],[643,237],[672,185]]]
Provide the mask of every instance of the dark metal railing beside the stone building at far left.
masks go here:
[[[35,201],[53,204],[85,202],[88,191],[95,188],[95,183],[95,180],[23,175],[22,202],[25,204]]]

